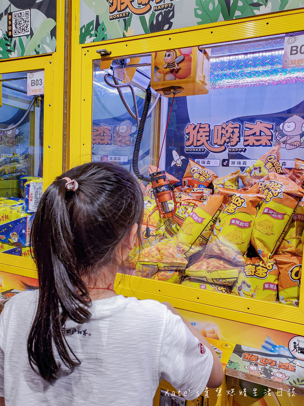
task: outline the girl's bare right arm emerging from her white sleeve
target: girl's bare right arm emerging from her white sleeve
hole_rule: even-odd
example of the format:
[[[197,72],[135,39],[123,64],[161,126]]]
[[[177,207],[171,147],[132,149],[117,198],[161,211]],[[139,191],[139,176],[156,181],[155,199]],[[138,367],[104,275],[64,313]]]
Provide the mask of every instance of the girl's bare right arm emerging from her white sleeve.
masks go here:
[[[223,366],[221,363],[221,360],[219,359],[217,353],[214,351],[212,346],[208,343],[208,341],[205,339],[204,335],[201,335],[192,325],[189,323],[189,321],[185,320],[183,316],[173,307],[171,306],[170,303],[164,302],[163,303],[173,314],[176,314],[180,316],[183,320],[183,322],[186,324],[186,326],[189,328],[191,333],[199,340],[201,344],[204,344],[207,348],[212,353],[213,356],[213,367],[211,370],[210,378],[207,383],[208,388],[218,388],[221,386],[223,379],[224,379],[224,371],[223,371]],[[0,405],[1,406],[1,405]]]

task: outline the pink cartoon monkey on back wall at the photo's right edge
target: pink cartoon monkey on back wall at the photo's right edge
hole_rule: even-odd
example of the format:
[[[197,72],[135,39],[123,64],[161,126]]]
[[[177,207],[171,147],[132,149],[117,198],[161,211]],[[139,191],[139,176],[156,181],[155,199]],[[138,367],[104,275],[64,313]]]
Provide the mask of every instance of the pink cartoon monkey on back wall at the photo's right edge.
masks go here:
[[[304,119],[298,115],[289,117],[276,128],[275,138],[286,149],[304,148]]]

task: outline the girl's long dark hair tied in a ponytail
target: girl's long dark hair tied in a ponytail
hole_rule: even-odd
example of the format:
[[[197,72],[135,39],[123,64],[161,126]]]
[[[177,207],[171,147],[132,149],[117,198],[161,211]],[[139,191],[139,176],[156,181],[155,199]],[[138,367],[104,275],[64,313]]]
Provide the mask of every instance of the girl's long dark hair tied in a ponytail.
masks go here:
[[[75,192],[66,190],[64,177],[78,182]],[[110,163],[77,166],[56,178],[43,194],[31,230],[40,294],[27,352],[32,369],[49,383],[58,379],[56,353],[71,372],[80,364],[63,327],[67,317],[80,324],[90,319],[83,278],[113,265],[121,241],[133,224],[140,225],[142,215],[138,181]]]

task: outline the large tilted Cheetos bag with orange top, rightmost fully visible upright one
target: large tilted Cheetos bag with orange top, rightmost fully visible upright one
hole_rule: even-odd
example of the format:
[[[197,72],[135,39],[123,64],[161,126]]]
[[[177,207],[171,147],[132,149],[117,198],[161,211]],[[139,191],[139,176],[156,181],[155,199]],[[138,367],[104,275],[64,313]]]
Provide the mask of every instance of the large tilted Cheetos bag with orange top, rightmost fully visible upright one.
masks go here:
[[[280,245],[304,190],[276,173],[268,174],[258,186],[264,199],[254,222],[251,244],[267,263]]]

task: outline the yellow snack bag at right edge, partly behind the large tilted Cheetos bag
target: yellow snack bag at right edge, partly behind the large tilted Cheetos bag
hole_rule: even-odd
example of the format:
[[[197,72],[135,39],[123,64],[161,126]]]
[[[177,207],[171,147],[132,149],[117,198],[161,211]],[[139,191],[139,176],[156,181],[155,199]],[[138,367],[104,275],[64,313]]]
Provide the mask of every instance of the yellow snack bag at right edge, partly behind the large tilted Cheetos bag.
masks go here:
[[[301,237],[304,232],[304,198],[299,202],[277,250],[278,254],[303,255]]]

